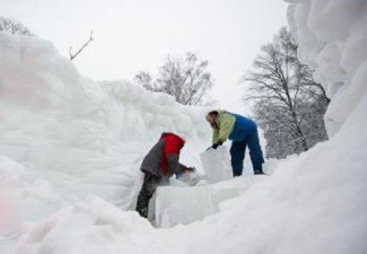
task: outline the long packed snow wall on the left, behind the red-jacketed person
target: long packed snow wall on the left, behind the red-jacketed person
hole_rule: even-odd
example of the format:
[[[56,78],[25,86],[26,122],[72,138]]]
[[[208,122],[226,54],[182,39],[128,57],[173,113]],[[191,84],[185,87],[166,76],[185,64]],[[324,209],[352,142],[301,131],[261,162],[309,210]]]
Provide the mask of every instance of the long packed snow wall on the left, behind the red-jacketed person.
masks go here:
[[[129,209],[140,162],[161,132],[185,135],[182,162],[199,170],[210,144],[207,108],[127,81],[89,80],[39,38],[0,34],[0,99],[0,154],[64,203],[95,194]]]

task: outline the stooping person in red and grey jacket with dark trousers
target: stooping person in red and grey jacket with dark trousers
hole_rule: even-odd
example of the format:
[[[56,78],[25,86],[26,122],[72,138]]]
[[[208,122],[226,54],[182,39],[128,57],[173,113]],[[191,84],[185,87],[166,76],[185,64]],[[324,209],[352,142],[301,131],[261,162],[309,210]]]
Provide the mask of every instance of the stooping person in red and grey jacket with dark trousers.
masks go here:
[[[163,133],[159,141],[145,155],[141,164],[144,181],[136,202],[136,211],[147,218],[149,201],[158,185],[167,185],[168,179],[175,174],[181,176],[190,167],[180,164],[180,150],[185,145],[185,139],[173,133]]]

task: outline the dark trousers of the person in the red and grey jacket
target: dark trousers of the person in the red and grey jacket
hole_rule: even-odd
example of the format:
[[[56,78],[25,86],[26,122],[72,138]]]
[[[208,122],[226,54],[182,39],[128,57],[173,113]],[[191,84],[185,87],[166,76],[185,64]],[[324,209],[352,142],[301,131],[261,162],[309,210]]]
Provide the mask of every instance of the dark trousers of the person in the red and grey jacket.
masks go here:
[[[144,181],[141,191],[138,195],[138,200],[136,202],[136,211],[144,218],[147,218],[147,211],[149,206],[149,201],[152,198],[155,190],[159,185],[166,185],[168,179],[160,178],[155,176],[150,172],[144,172]]]

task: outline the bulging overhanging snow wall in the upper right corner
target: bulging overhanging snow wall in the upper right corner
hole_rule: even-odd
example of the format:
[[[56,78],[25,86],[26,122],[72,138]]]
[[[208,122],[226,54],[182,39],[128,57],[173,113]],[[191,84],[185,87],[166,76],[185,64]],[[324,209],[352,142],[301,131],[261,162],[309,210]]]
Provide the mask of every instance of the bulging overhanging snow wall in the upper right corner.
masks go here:
[[[333,136],[367,92],[367,3],[365,0],[286,0],[299,43],[298,58],[331,97],[325,115]]]

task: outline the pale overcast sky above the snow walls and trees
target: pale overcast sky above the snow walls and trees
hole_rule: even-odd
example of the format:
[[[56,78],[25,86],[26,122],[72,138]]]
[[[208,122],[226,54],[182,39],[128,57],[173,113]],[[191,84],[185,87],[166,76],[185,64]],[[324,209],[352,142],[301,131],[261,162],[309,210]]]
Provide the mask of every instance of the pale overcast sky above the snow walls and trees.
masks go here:
[[[74,62],[96,80],[154,75],[168,53],[196,52],[209,61],[212,97],[243,112],[240,76],[287,24],[286,8],[282,0],[1,0],[0,15],[24,22],[65,56],[94,29],[95,41]]]

